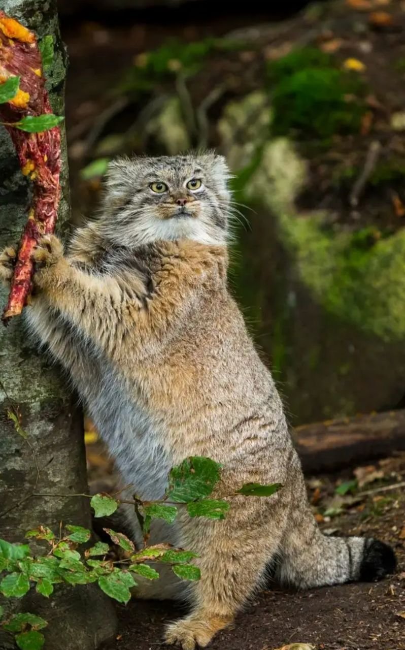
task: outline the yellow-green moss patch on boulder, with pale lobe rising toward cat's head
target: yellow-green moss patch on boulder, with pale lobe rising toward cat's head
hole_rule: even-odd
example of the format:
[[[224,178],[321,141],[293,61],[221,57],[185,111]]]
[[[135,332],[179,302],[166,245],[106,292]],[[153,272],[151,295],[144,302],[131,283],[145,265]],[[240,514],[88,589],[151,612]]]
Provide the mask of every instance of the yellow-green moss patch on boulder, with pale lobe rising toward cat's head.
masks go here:
[[[335,231],[323,213],[296,214],[305,165],[289,140],[263,147],[246,196],[267,205],[281,241],[313,298],[341,322],[384,341],[405,337],[405,229]]]

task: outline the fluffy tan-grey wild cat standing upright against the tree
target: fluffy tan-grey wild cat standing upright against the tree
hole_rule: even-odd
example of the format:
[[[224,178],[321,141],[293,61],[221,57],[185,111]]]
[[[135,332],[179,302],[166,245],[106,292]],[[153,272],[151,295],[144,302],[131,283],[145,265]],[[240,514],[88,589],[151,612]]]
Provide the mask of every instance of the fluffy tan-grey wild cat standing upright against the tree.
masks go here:
[[[186,588],[163,571],[137,589],[189,599],[190,614],[165,635],[183,650],[229,625],[269,564],[297,588],[395,569],[384,543],[326,537],[315,523],[280,396],[228,289],[228,179],[214,153],[112,162],[99,217],[77,230],[68,253],[56,237],[40,242],[25,309],[142,499],[161,499],[168,471],[187,456],[222,463],[218,497],[247,482],[283,484],[272,497],[232,497],[224,521],[153,523],[151,542],[200,556],[199,582]],[[5,279],[13,254],[1,258]]]

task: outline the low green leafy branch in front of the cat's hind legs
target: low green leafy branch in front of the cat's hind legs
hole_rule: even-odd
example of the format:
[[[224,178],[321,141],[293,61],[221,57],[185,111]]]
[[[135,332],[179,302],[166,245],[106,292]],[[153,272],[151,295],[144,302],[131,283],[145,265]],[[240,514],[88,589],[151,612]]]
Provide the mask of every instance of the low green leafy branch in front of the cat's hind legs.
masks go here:
[[[88,497],[96,517],[114,513],[120,503],[131,503],[137,513],[144,534],[144,547],[135,549],[131,539],[112,528],[103,528],[112,543],[124,553],[115,560],[109,544],[97,541],[91,547],[88,543],[92,533],[82,526],[66,525],[59,536],[47,526],[38,526],[25,534],[26,539],[37,539],[47,543],[45,554],[33,556],[29,544],[12,544],[0,539],[0,593],[7,598],[21,598],[31,588],[49,598],[55,584],[97,583],[99,588],[119,603],[127,603],[131,589],[137,586],[137,578],[157,580],[159,571],[153,565],[170,565],[173,573],[182,580],[199,580],[200,568],[192,561],[198,554],[185,549],[176,549],[168,543],[148,546],[148,536],[153,519],[164,519],[173,523],[180,506],[187,508],[190,517],[224,519],[230,508],[227,500],[210,499],[220,481],[221,465],[201,456],[191,456],[173,467],[169,474],[164,498],[157,501],[117,499],[99,493],[96,495],[58,495],[66,497]],[[127,486],[129,487],[129,486]],[[263,486],[246,484],[232,496],[270,496],[280,489],[281,484]],[[33,493],[31,497],[40,497]],[[46,495],[47,497],[57,495]],[[226,497],[229,499],[229,497]],[[83,546],[86,545],[86,546]],[[0,608],[0,618],[3,612]],[[44,634],[40,632],[47,625],[35,614],[17,614],[1,623],[3,629],[16,635],[20,650],[40,650],[44,645]]]

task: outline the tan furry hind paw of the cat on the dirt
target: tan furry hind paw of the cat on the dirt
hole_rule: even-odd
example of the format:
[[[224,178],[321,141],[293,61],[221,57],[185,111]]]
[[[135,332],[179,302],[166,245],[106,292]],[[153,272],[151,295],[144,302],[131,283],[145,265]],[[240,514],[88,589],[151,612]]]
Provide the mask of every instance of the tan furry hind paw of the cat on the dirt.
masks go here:
[[[182,650],[194,650],[196,646],[205,648],[219,630],[227,627],[228,617],[187,616],[166,628],[164,640],[169,645],[175,644]]]

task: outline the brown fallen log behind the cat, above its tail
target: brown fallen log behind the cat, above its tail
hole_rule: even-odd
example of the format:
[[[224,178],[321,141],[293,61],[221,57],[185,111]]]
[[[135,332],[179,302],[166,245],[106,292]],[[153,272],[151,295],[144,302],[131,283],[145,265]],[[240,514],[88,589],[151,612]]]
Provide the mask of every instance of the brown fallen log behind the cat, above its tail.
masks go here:
[[[350,467],[405,450],[405,409],[304,424],[293,439],[307,474]]]

